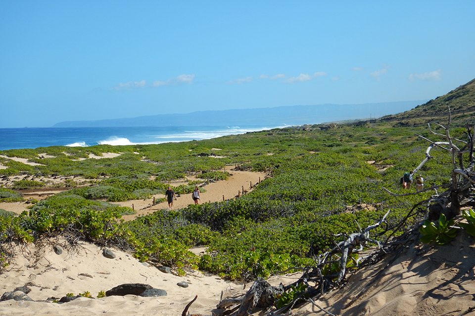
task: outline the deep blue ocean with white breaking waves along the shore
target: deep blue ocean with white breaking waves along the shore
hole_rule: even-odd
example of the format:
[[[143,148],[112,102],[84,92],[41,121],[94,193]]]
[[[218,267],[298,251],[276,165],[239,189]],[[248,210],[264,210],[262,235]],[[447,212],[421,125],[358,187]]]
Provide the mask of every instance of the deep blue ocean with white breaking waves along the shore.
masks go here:
[[[0,150],[49,146],[161,144],[202,140],[284,126],[0,128]]]

